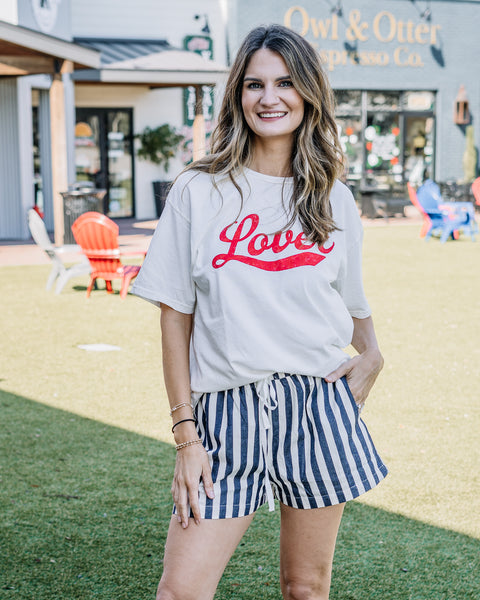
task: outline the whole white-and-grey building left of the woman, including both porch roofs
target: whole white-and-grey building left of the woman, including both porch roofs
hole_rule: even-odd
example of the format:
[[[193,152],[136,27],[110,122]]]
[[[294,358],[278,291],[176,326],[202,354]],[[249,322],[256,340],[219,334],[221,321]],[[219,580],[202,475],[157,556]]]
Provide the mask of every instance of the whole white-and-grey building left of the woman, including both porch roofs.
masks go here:
[[[224,3],[170,4],[2,0],[0,240],[28,239],[36,206],[61,244],[61,192],[78,181],[107,191],[113,218],[154,218],[152,182],[205,152],[226,73]],[[169,172],[138,156],[138,135],[163,124],[184,135]]]

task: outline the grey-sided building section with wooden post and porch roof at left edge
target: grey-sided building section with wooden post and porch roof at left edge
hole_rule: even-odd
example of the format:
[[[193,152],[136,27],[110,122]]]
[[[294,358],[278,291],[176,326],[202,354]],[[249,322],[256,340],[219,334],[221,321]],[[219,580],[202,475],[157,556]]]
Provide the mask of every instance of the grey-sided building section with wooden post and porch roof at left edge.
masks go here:
[[[71,43],[69,17],[58,3],[0,5],[0,239],[27,238],[35,204],[50,229],[63,223],[58,199],[73,164],[71,73],[100,64],[98,52]]]

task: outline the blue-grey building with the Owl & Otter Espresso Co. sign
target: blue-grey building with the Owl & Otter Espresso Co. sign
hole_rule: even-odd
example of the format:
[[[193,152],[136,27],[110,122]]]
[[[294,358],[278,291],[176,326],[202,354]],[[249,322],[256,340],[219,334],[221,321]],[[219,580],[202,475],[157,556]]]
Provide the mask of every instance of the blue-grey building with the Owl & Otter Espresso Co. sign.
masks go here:
[[[478,128],[480,120],[480,2],[242,0],[235,6],[236,46],[252,27],[276,22],[318,49],[335,90],[354,188],[401,188],[425,176],[463,179],[465,128]],[[457,124],[459,92],[470,117]]]

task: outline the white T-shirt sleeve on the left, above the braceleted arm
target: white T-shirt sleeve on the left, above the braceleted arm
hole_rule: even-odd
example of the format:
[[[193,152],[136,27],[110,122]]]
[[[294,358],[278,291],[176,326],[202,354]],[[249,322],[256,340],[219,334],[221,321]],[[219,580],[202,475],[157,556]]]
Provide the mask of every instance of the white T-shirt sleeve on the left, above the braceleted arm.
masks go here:
[[[132,287],[132,293],[153,304],[167,304],[192,314],[195,286],[192,280],[191,224],[184,208],[188,190],[177,181],[153,235],[145,261]],[[183,191],[185,194],[183,194]],[[177,206],[176,206],[177,205]]]

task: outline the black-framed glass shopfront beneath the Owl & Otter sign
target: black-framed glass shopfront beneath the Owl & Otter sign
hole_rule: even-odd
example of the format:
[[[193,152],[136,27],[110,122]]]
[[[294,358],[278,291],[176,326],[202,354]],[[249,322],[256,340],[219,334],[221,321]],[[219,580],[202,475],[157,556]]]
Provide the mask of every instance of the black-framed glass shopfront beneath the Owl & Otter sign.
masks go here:
[[[337,90],[346,178],[364,189],[400,190],[435,176],[435,93]]]

